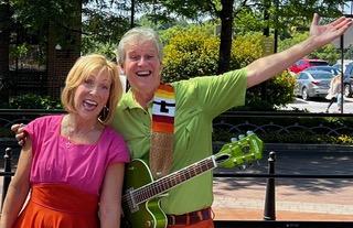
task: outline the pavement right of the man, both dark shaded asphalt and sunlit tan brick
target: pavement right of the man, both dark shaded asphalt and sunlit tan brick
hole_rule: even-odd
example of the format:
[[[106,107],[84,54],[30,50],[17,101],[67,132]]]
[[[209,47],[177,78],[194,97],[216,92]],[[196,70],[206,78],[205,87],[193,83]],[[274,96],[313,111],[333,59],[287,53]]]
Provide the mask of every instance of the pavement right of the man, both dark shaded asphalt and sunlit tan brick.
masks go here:
[[[267,173],[267,158],[248,173]],[[276,173],[353,174],[353,153],[277,153]],[[278,220],[353,221],[353,180],[276,180]],[[215,219],[261,220],[266,178],[226,178],[214,181]]]

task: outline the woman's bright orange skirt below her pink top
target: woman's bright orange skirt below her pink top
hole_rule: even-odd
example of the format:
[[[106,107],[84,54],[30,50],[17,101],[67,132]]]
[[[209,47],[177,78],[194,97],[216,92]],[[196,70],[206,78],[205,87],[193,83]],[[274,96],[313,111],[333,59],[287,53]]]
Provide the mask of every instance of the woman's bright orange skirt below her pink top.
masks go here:
[[[98,228],[98,196],[63,184],[36,184],[14,228]]]

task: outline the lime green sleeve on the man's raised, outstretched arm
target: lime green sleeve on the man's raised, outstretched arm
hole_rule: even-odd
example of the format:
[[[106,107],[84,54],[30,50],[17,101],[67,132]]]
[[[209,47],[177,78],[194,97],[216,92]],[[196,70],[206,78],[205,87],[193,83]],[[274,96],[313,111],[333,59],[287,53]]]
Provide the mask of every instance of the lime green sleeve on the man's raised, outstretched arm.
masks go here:
[[[185,99],[192,99],[213,119],[229,108],[244,106],[246,76],[246,69],[242,68],[220,76],[191,78],[185,82],[185,88],[181,88],[181,94],[188,96]]]

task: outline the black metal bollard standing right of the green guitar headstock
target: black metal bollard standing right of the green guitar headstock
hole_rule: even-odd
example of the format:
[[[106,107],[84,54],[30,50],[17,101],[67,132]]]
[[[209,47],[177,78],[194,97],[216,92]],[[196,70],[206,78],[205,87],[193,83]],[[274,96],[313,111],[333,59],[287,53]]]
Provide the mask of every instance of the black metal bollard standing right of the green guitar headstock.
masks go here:
[[[268,174],[275,174],[275,161],[276,153],[271,151],[268,158]],[[267,180],[264,219],[276,220],[275,178]]]

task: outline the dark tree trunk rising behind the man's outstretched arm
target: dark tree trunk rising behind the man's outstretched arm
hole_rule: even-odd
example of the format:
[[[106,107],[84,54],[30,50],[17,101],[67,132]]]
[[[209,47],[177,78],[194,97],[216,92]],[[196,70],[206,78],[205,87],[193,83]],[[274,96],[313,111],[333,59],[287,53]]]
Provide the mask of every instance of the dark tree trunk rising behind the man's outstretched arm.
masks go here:
[[[229,70],[232,35],[233,35],[233,3],[234,0],[221,0],[221,44],[218,74]]]

